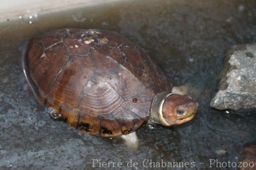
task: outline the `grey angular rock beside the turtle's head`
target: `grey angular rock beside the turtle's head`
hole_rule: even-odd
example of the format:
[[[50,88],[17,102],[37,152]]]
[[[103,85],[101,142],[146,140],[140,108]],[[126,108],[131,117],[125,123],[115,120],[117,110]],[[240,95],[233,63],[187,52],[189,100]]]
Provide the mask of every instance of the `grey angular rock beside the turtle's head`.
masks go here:
[[[230,48],[224,58],[218,92],[210,105],[219,110],[256,109],[256,44]]]

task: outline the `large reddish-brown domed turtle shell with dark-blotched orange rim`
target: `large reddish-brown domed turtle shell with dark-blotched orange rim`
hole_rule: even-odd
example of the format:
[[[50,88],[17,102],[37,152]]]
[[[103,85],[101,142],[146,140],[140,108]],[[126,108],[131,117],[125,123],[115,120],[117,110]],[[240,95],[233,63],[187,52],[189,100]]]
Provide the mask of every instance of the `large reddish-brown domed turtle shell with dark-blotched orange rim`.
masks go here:
[[[172,90],[142,48],[111,31],[49,31],[29,41],[26,62],[39,101],[97,136],[133,132],[147,121],[153,97]]]

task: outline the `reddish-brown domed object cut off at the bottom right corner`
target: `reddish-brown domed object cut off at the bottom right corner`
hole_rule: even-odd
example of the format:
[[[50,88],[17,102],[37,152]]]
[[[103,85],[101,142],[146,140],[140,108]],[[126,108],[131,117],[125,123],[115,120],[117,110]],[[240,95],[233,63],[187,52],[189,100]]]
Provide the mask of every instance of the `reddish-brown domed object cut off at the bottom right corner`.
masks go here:
[[[244,145],[239,162],[241,162],[239,170],[255,170],[256,142]]]

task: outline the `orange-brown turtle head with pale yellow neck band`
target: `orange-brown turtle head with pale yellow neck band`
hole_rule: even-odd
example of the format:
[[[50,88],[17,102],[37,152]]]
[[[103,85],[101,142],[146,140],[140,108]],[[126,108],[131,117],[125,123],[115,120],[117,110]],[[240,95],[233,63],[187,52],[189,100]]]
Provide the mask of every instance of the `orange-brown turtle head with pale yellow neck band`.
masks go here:
[[[151,105],[151,119],[165,126],[180,125],[195,117],[198,103],[189,96],[172,93],[157,94]]]

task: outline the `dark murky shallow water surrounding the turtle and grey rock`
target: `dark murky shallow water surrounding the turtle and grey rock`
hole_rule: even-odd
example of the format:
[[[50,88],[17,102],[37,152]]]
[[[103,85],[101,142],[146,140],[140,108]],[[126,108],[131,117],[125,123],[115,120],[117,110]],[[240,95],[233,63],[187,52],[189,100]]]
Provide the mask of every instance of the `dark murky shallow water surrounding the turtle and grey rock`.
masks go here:
[[[206,170],[209,159],[238,161],[241,146],[256,139],[253,113],[209,108],[227,49],[256,42],[256,1],[141,0],[36,14],[32,24],[20,19],[0,25],[0,169],[91,169],[92,159],[122,162],[122,169],[131,159],[137,169],[148,169],[144,159],[163,159],[195,162],[186,169]],[[137,130],[138,150],[128,150],[122,139],[82,134],[53,121],[29,93],[18,48],[52,28],[108,29],[137,42],[175,85],[191,87],[200,104],[197,117],[178,127],[143,126]]]

